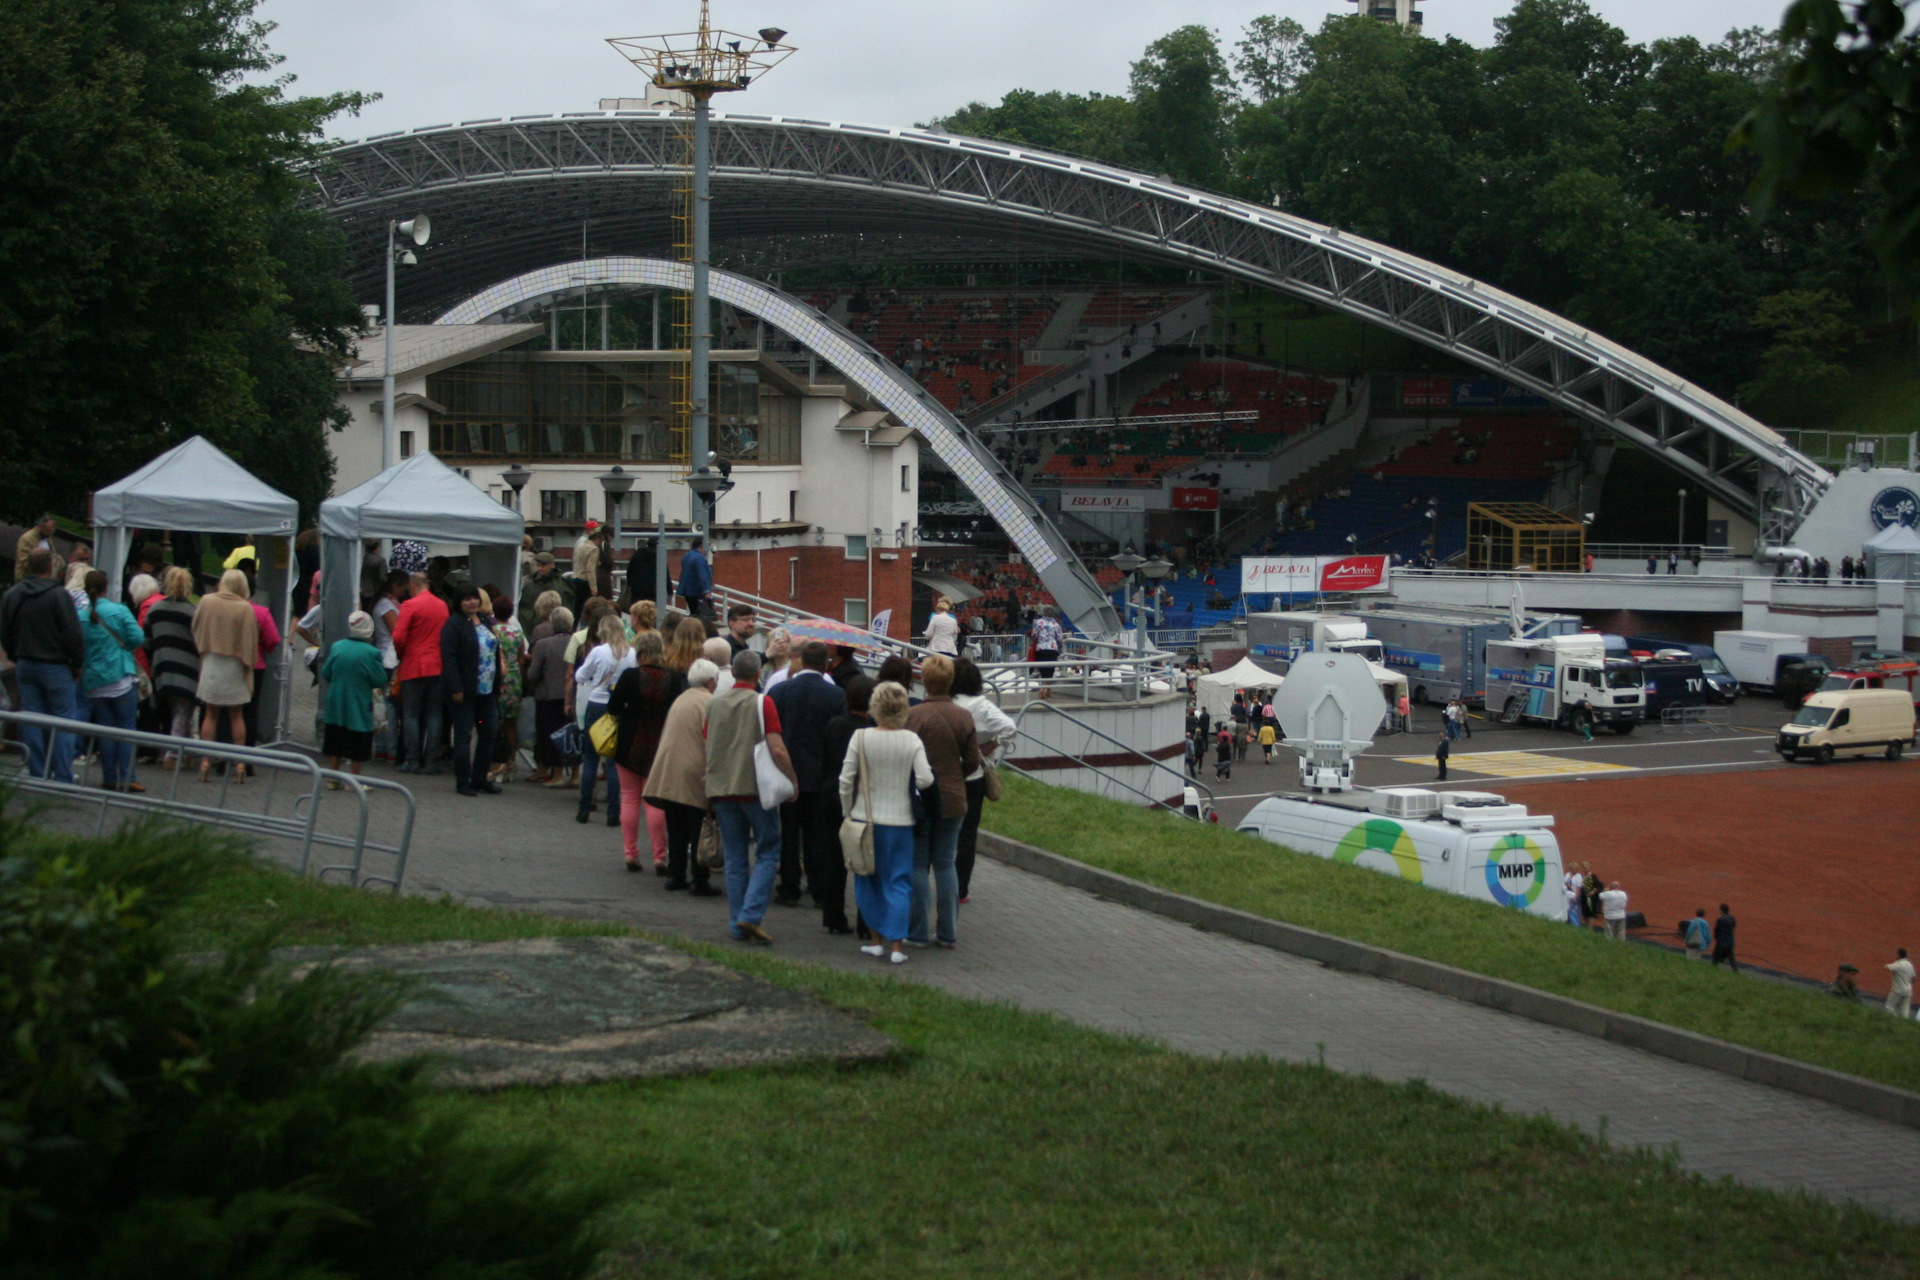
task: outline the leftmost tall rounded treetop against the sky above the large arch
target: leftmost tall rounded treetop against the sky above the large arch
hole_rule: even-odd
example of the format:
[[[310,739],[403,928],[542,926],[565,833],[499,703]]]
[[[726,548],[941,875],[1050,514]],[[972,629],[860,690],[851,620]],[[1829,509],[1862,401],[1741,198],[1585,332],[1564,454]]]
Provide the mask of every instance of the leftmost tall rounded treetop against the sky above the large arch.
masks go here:
[[[1133,63],[1133,111],[1140,155],[1175,182],[1225,190],[1233,75],[1206,27],[1181,27]]]

